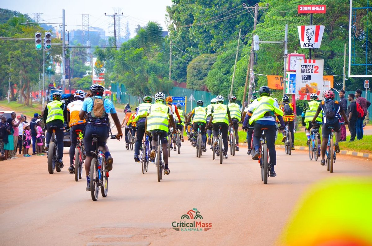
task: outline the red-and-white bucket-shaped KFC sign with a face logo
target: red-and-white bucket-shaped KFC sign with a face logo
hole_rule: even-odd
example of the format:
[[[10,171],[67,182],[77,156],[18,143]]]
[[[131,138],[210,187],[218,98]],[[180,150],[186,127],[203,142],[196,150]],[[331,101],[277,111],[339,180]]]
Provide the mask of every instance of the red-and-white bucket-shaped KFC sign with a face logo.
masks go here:
[[[297,26],[303,49],[318,49],[322,43],[324,26]]]

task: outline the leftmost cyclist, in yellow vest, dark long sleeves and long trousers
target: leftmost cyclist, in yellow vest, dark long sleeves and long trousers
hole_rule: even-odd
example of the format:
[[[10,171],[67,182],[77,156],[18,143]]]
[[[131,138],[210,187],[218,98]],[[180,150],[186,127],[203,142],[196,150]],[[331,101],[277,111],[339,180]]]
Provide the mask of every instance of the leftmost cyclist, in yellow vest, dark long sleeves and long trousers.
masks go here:
[[[63,130],[65,119],[67,119],[67,109],[66,105],[61,102],[62,94],[55,92],[52,94],[53,101],[47,104],[44,109],[43,119],[47,123],[47,134],[45,136],[45,151],[49,149],[49,142],[52,137],[51,126],[57,126],[55,129],[55,137],[57,139],[57,148],[58,148],[58,160],[60,168],[63,168]]]

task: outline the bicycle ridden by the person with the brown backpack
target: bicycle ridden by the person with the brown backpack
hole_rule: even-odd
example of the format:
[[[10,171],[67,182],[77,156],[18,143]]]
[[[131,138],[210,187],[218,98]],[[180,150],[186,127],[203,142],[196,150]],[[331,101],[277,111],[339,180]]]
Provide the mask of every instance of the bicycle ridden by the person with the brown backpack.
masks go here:
[[[93,155],[92,162],[90,163],[89,178],[90,178],[90,195],[93,201],[97,201],[98,192],[101,190],[102,197],[107,197],[109,185],[109,170],[104,169],[106,166],[105,154],[98,148],[97,134],[92,134],[92,142],[95,145],[95,151],[90,153]],[[116,135],[110,136],[115,139]]]

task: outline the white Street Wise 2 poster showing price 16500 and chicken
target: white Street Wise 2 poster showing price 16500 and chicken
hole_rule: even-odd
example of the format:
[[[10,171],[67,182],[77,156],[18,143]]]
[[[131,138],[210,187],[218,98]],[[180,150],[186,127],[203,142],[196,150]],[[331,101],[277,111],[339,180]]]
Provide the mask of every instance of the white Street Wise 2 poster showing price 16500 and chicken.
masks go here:
[[[296,100],[310,100],[310,94],[323,99],[324,60],[297,60],[296,67]]]

